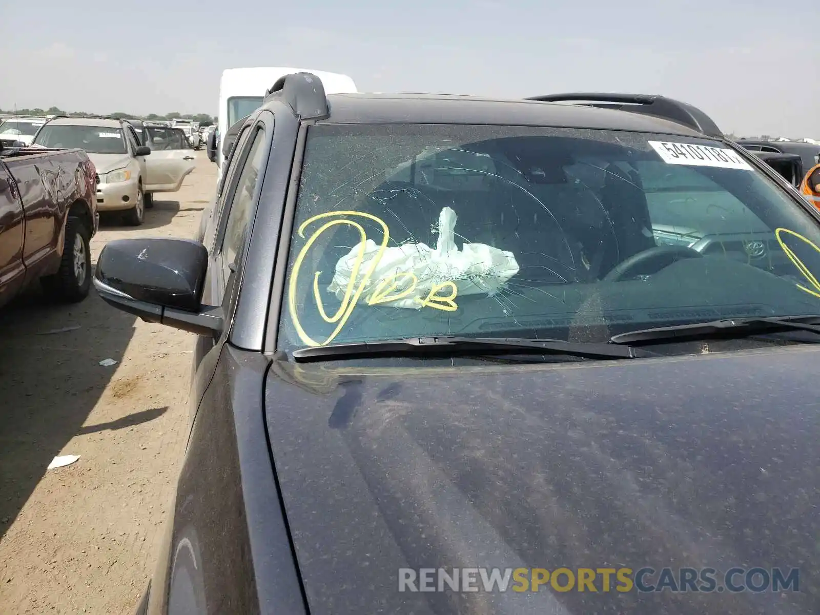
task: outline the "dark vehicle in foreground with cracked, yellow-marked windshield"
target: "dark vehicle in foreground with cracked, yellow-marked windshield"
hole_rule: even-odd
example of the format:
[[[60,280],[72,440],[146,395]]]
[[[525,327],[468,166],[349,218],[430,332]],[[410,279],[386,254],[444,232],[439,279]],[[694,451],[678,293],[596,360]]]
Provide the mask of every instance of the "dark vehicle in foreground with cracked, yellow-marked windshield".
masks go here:
[[[695,107],[580,96],[630,108],[288,75],[202,242],[103,248],[198,335],[138,613],[817,613],[820,212]]]

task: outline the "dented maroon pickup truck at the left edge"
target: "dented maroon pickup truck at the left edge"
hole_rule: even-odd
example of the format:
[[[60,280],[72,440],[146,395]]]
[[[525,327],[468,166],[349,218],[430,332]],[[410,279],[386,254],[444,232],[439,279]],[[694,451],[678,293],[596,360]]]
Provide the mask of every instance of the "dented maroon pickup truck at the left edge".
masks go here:
[[[34,280],[58,302],[88,296],[96,175],[81,149],[0,146],[0,306]]]

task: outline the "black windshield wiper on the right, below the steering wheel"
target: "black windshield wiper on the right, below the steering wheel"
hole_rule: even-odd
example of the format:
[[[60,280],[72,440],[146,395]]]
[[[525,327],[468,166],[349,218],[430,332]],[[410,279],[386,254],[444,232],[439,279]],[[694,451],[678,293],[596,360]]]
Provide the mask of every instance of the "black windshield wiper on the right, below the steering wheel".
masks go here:
[[[820,333],[820,316],[784,316],[724,318],[719,321],[696,322],[693,325],[659,326],[654,329],[628,331],[613,335],[613,344],[662,341],[664,339],[698,337],[745,337],[783,330],[803,330]]]

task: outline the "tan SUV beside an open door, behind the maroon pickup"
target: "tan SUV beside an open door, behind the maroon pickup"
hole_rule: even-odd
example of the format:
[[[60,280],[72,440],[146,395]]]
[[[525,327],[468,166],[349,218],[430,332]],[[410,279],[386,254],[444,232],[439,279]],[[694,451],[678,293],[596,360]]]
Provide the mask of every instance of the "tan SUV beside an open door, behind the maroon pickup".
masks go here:
[[[144,129],[148,130],[148,124]],[[125,223],[144,221],[146,201],[157,192],[175,192],[194,168],[193,153],[175,150],[153,157],[129,121],[101,116],[57,117],[39,130],[34,147],[83,148],[97,166],[101,212],[124,212]]]

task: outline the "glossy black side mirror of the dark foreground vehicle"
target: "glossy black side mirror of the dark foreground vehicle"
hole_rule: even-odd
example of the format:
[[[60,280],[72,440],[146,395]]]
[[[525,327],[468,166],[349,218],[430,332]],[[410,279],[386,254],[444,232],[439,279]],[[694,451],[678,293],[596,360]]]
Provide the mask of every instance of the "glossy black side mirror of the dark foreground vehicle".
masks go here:
[[[97,261],[103,301],[147,322],[218,335],[222,308],[203,306],[207,249],[190,239],[117,239]]]

